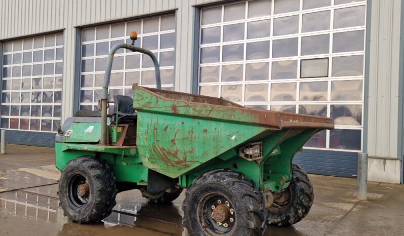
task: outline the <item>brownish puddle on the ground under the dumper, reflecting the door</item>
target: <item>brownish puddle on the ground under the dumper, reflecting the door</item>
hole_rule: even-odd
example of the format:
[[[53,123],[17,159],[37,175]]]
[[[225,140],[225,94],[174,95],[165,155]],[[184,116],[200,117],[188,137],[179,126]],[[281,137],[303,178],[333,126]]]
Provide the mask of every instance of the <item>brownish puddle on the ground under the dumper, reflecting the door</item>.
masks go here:
[[[169,214],[161,220],[156,211]],[[0,234],[13,235],[187,235],[175,205],[146,203],[133,209],[115,209],[98,224],[77,224],[63,215],[59,200],[24,190],[0,194]]]

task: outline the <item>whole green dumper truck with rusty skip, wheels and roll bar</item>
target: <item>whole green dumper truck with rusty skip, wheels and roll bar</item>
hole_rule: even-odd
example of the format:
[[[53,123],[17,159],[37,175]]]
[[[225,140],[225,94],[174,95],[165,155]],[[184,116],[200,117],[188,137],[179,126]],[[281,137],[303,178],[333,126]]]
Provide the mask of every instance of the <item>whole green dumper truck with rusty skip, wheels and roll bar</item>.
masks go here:
[[[133,32],[133,42],[136,38]],[[64,213],[93,223],[111,213],[118,191],[140,189],[145,198],[164,204],[187,188],[183,224],[192,235],[262,235],[266,224],[303,219],[313,189],[292,159],[313,134],[333,129],[333,120],[161,90],[154,54],[133,45],[110,50],[101,112],[78,111],[58,131]],[[115,95],[109,101],[119,48],[152,58],[157,89],[134,85],[133,99]],[[115,111],[108,115],[110,103]]]

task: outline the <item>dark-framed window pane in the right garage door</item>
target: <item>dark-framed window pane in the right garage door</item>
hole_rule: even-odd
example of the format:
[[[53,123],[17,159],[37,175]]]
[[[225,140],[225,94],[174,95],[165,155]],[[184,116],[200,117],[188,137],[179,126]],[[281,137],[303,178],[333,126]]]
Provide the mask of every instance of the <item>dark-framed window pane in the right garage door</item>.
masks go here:
[[[328,76],[328,58],[301,60],[300,77],[327,77]]]

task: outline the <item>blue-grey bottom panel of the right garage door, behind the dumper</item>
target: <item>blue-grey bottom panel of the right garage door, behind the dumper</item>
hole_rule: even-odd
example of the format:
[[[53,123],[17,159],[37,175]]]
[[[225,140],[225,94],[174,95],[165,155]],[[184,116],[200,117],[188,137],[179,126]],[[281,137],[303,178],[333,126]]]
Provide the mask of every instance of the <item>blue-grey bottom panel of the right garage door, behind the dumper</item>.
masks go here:
[[[312,174],[355,177],[357,173],[356,152],[304,149],[293,162]]]

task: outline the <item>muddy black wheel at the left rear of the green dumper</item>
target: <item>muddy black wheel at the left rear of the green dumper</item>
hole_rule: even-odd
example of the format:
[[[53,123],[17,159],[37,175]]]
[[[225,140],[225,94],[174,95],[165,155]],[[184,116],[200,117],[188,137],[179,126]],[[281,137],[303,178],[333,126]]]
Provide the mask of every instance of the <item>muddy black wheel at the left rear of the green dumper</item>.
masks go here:
[[[116,179],[107,164],[89,156],[69,161],[59,180],[64,214],[78,223],[95,223],[111,214],[117,193]]]

